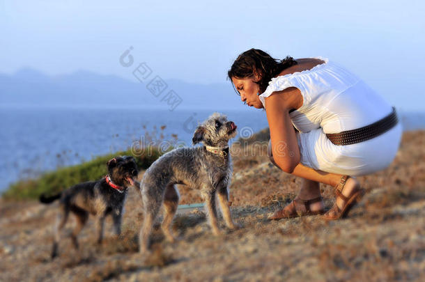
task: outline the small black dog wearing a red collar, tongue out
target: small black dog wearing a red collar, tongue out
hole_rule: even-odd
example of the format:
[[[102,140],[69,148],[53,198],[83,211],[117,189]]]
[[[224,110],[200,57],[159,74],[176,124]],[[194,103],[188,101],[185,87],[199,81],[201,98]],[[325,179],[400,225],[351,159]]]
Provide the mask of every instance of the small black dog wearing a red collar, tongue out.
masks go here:
[[[116,235],[121,234],[121,219],[127,187],[139,187],[137,164],[134,157],[115,157],[107,162],[108,175],[98,181],[74,185],[60,194],[51,197],[40,196],[41,203],[52,203],[60,198],[60,211],[54,228],[52,258],[58,254],[60,231],[65,226],[70,212],[77,218],[77,226],[72,232],[72,242],[78,249],[77,235],[93,214],[98,219],[98,243],[102,242],[105,217],[111,214]]]

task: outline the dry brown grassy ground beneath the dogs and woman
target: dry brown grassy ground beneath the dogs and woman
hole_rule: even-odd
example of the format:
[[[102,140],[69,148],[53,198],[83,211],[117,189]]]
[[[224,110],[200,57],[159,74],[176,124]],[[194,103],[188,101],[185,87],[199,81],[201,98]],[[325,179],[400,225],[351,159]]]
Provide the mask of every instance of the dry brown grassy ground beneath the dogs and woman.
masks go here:
[[[91,217],[75,250],[66,236],[71,217],[55,260],[49,253],[57,203],[1,201],[0,281],[425,281],[425,131],[405,133],[385,171],[359,177],[368,193],[348,218],[332,222],[320,216],[268,221],[294,198],[300,179],[253,151],[233,155],[231,210],[241,228],[222,224],[224,234],[215,237],[203,212],[177,215],[178,242],[155,230],[147,260],[137,252],[143,219],[135,189],[120,237],[107,219],[105,241],[95,244]],[[321,189],[331,207],[332,187]],[[197,191],[179,190],[180,204],[201,202]]]

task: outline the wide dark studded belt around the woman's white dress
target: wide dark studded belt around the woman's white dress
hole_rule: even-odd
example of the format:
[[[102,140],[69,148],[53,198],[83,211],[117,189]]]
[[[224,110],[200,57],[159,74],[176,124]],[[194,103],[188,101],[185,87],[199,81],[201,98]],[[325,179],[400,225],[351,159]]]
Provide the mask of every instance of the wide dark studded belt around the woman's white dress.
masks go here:
[[[385,116],[385,118],[378,120],[376,123],[357,128],[356,130],[326,134],[326,136],[335,145],[350,145],[360,143],[383,134],[394,127],[397,122],[396,108],[392,107],[392,113]]]

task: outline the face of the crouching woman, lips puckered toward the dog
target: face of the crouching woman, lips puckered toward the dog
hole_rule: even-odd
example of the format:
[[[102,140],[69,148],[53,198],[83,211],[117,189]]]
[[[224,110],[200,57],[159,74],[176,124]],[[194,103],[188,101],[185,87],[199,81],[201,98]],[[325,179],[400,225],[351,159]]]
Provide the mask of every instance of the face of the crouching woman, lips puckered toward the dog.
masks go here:
[[[258,78],[258,76],[255,77],[257,81]],[[232,82],[235,85],[236,90],[239,92],[240,100],[242,100],[242,102],[246,102],[249,107],[263,109],[263,104],[258,97],[260,86],[256,84],[253,79],[253,77],[244,79],[232,77]]]

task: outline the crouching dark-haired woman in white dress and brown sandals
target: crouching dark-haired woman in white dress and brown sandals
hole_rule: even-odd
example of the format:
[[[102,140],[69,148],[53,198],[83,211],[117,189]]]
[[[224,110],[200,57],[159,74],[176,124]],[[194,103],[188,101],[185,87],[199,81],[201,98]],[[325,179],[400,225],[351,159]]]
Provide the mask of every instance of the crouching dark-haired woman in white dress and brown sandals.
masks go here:
[[[327,58],[277,60],[249,49],[228,75],[242,102],[265,109],[272,163],[303,179],[295,200],[270,219],[346,216],[364,194],[355,176],[385,169],[396,155],[403,130],[394,107]],[[319,183],[335,187],[327,212]]]

